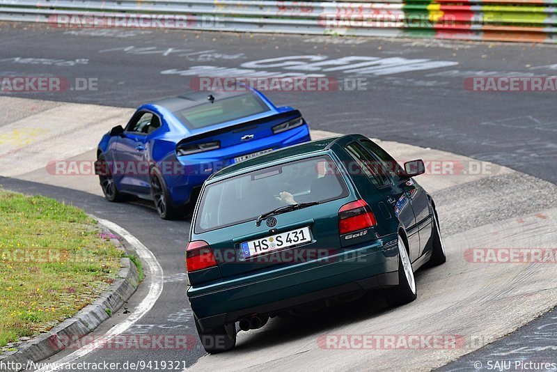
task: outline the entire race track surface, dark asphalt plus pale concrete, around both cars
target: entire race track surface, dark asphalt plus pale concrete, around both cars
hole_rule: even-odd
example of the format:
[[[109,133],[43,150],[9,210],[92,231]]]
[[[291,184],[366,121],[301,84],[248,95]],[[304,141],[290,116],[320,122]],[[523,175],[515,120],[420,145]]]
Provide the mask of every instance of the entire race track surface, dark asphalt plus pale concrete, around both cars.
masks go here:
[[[466,156],[462,158],[463,162],[472,158],[520,172],[495,167],[496,171],[485,177],[462,175],[457,180],[441,180],[431,176],[424,181],[441,206],[444,235],[455,250],[450,252],[446,265],[417,274],[420,293],[414,304],[401,309],[388,309],[378,298],[299,319],[276,320],[269,324],[269,328],[240,334],[237,350],[217,357],[203,357],[196,364],[196,369],[210,367],[225,371],[290,366],[308,370],[315,362],[319,366],[317,368],[325,370],[338,369],[339,366],[362,370],[369,366],[364,362],[377,360],[384,364],[374,364],[375,369],[397,365],[402,370],[427,370],[499,339],[557,303],[554,275],[551,278],[554,266],[538,265],[520,270],[516,267],[512,270],[496,267],[483,271],[481,267],[472,268],[462,263],[462,249],[466,247],[489,247],[490,244],[496,247],[532,247],[533,242],[538,244],[535,247],[554,247],[557,212],[552,208],[557,201],[557,187],[551,183],[557,183],[557,165],[554,162],[557,155],[557,123],[552,94],[556,92],[473,92],[464,88],[464,78],[487,74],[554,75],[557,70],[553,58],[556,47],[361,38],[347,39],[349,43],[344,39],[306,36],[113,29],[68,31],[13,24],[0,24],[0,32],[3,36],[0,40],[0,76],[57,76],[70,81],[86,78],[97,82],[97,90],[77,93],[3,93],[5,96],[33,99],[6,100],[0,97],[0,113],[3,115],[0,127],[10,130],[10,123],[31,120],[30,111],[36,121],[41,119],[41,114],[46,121],[52,121],[53,113],[62,115],[65,112],[66,117],[60,121],[61,128],[58,129],[71,139],[72,125],[75,125],[76,137],[91,135],[94,138],[90,142],[95,144],[97,132],[101,129],[100,132],[105,132],[112,124],[116,125],[129,115],[130,110],[111,108],[101,112],[102,107],[91,104],[135,107],[144,101],[182,93],[190,89],[194,72],[200,71],[217,71],[214,73],[221,74],[219,76],[243,76],[261,71],[320,73],[337,79],[343,91],[266,94],[277,104],[292,104],[300,109],[313,130],[359,132],[386,141],[448,152],[431,150],[432,155],[427,155],[429,150],[391,143],[389,146],[398,148],[402,157],[419,154],[424,159],[429,156],[454,160],[459,159],[454,154],[459,154]],[[262,61],[284,56],[306,57]],[[383,61],[380,68],[356,65],[372,61],[371,57],[389,61]],[[290,64],[285,64],[285,61]],[[323,64],[308,66],[308,61],[322,61]],[[336,62],[326,64],[327,61]],[[337,69],[328,71],[327,68]],[[353,71],[359,68],[368,70]],[[361,79],[358,81],[365,88],[348,91],[348,84],[354,79]],[[87,131],[89,123],[72,123],[72,116],[68,114],[71,110],[74,114],[81,109],[85,111],[84,106],[36,100],[89,104],[86,107],[88,116],[94,115],[97,110],[102,120],[91,119],[91,127],[95,126],[93,136]],[[54,124],[49,130],[54,130]],[[40,135],[37,140],[42,138]],[[34,140],[30,141],[33,143]],[[67,159],[91,150],[82,148],[74,151],[68,142],[59,144],[61,153],[65,155],[45,157],[49,160]],[[48,148],[47,141],[37,144]],[[29,150],[22,150],[22,155],[18,155],[17,151],[0,151],[3,161],[0,174],[19,178],[0,178],[2,187],[52,196],[84,208],[97,217],[109,219],[130,231],[157,256],[164,268],[163,293],[153,310],[141,318],[129,333],[195,334],[193,314],[185,300],[183,252],[188,219],[166,222],[159,220],[155,211],[144,203],[107,203],[98,196],[100,187],[96,179],[90,177],[77,181],[58,177],[54,180],[40,171],[45,162],[35,167],[32,162],[26,162],[26,166],[32,169],[18,173],[13,168],[19,163],[14,161],[12,164],[12,160],[22,160],[29,155]],[[91,157],[90,152],[86,154],[83,155],[85,158]],[[483,274],[487,274],[489,280],[481,277]],[[474,281],[474,277],[480,279]],[[462,278],[470,279],[470,282],[464,283]],[[512,282],[505,282],[505,279]],[[149,280],[147,275],[146,282],[128,304],[129,309],[141,301]],[[467,291],[464,287],[468,284],[471,287]],[[416,313],[412,313],[413,309]],[[495,310],[499,311],[489,313]],[[469,371],[473,370],[473,363],[478,360],[498,358],[551,361],[553,357],[553,362],[557,362],[554,342],[557,337],[556,317],[556,311],[550,311],[510,336],[448,364],[443,370]],[[123,318],[125,313],[119,311],[95,333],[110,334],[111,327]],[[391,320],[393,318],[396,320]],[[389,328],[389,320],[392,321],[392,329]],[[439,327],[431,326],[437,323]],[[379,324],[386,327],[379,328]],[[377,355],[363,355],[366,351],[360,350],[359,353],[341,355],[345,350],[331,352],[317,347],[317,336],[331,332],[350,333],[350,330],[353,333],[356,325],[366,329],[366,332],[380,330],[382,334],[464,334],[475,336],[477,343],[475,347],[467,345],[466,350],[439,354],[390,350]],[[52,360],[67,357],[73,351],[65,350]],[[196,346],[187,351],[95,350],[82,359],[119,362],[180,360],[183,367],[188,367],[203,355],[205,352]],[[286,356],[288,360],[281,359]],[[335,360],[331,361],[331,358]]]

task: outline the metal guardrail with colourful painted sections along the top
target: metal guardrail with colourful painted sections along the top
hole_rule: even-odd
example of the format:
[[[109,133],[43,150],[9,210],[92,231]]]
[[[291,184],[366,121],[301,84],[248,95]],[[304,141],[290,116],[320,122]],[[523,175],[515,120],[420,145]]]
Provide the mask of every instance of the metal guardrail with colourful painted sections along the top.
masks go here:
[[[0,20],[557,43],[555,0],[0,0]]]

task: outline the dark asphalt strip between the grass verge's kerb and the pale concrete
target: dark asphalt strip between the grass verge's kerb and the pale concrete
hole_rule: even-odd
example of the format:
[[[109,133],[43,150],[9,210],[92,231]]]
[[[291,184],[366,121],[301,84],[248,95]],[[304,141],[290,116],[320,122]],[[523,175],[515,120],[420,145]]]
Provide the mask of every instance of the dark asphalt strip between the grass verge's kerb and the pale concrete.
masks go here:
[[[159,219],[155,210],[150,210],[143,206],[132,204],[108,204],[103,198],[80,192],[72,189],[51,187],[49,185],[27,183],[19,180],[1,179],[1,185],[6,189],[19,190],[29,194],[42,194],[51,196],[66,203],[84,208],[87,212],[102,216],[104,219],[116,222],[128,231],[132,231],[143,245],[146,245],[155,252],[157,260],[164,268],[164,291],[157,301],[157,309],[152,311],[136,323],[127,334],[191,334],[195,332],[193,323],[193,313],[188,311],[185,297],[185,263],[182,259],[184,241],[187,238],[187,224],[180,221],[172,221],[166,224]],[[130,216],[134,216],[130,219]],[[143,231],[143,233],[141,233]],[[164,231],[160,235],[152,231]],[[177,259],[177,256],[180,259]],[[146,275],[146,282],[139,287],[139,293],[132,296],[132,301],[127,305],[128,309],[133,309],[134,305],[145,295],[145,290],[150,280],[149,274]],[[158,308],[158,306],[160,306]],[[164,309],[164,311],[162,311]],[[110,334],[111,327],[125,318],[124,309],[120,310],[109,321],[103,323],[97,334]],[[193,329],[191,328],[193,327]],[[65,350],[58,356],[69,354],[75,350]],[[184,361],[185,366],[193,364],[196,359],[205,354],[203,348],[191,350],[141,350],[141,355],[137,355],[138,350],[97,350],[94,359],[97,360],[180,360]],[[127,354],[127,355],[126,355]],[[116,359],[114,357],[118,355]]]

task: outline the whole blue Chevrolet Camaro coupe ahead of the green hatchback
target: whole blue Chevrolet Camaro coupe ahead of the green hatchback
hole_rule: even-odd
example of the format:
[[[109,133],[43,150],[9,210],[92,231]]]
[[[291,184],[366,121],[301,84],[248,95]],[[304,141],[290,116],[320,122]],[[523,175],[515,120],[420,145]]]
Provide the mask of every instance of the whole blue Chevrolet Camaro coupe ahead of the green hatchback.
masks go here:
[[[104,134],[95,173],[107,200],[150,199],[170,219],[195,203],[215,171],[309,140],[297,109],[275,107],[255,89],[194,92],[143,104],[125,127]]]

